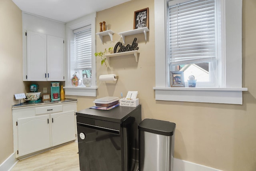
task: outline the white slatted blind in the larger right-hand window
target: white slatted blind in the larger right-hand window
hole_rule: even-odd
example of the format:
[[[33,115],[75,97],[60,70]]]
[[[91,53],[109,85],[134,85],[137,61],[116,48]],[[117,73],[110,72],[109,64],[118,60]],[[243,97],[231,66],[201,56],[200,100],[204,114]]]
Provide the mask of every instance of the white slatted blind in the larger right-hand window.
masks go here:
[[[171,66],[215,60],[215,0],[171,3],[169,1]]]

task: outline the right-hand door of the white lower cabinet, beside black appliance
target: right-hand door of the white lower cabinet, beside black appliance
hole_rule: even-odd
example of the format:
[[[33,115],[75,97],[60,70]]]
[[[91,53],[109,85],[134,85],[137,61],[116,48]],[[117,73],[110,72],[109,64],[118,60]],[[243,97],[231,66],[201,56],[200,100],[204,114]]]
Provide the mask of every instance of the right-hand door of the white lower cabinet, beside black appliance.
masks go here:
[[[76,139],[75,111],[51,114],[52,146]]]

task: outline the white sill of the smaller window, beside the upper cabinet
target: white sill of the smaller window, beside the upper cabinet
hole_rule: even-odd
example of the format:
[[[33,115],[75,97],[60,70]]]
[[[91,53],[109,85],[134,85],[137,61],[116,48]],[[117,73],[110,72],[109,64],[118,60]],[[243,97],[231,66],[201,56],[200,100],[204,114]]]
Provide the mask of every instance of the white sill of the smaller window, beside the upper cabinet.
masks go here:
[[[98,87],[63,87],[66,95],[96,97]]]

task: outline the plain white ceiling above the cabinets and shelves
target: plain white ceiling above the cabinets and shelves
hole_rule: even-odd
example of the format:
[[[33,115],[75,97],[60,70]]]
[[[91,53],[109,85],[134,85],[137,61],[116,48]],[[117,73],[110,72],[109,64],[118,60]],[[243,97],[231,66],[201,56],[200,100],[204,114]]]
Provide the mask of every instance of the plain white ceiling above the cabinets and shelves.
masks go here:
[[[69,22],[130,0],[12,0],[23,12]]]

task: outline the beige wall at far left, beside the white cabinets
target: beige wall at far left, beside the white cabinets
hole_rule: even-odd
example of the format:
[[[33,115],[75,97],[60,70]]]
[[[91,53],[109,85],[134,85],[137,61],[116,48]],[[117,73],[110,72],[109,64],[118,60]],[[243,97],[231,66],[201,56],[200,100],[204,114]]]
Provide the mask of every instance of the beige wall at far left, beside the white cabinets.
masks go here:
[[[22,82],[22,15],[12,0],[0,0],[0,163],[13,153],[12,109]]]

